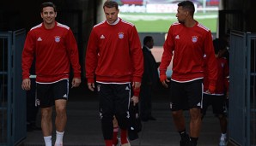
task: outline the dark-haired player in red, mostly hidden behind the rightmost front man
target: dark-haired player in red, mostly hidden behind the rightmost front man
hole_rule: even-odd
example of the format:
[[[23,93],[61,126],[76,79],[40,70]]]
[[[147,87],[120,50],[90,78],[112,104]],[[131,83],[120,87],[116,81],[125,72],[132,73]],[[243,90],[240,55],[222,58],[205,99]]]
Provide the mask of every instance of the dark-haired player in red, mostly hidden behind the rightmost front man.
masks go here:
[[[206,114],[207,108],[211,105],[212,112],[220,121],[222,136],[220,138],[219,146],[227,145],[227,115],[225,113],[225,102],[226,97],[229,96],[229,65],[226,58],[222,57],[222,53],[227,50],[226,42],[222,39],[216,38],[213,40],[214,50],[217,61],[217,80],[216,80],[216,90],[215,93],[209,92],[209,80],[207,67],[205,67],[205,76],[204,76],[204,100],[203,100],[203,109],[202,114]],[[205,56],[205,60],[207,56]]]

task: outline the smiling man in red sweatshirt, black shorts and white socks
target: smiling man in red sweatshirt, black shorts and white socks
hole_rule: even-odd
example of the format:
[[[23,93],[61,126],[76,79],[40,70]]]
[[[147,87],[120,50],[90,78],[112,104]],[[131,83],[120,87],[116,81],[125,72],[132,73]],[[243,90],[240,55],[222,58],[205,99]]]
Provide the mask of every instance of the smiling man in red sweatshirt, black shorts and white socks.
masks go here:
[[[66,102],[69,94],[70,64],[74,71],[72,87],[81,83],[76,39],[69,26],[55,21],[53,3],[41,4],[43,22],[31,28],[22,52],[22,89],[31,89],[29,70],[35,58],[36,104],[41,108],[41,127],[46,146],[52,146],[52,107],[56,109],[56,142],[63,145],[66,126]]]

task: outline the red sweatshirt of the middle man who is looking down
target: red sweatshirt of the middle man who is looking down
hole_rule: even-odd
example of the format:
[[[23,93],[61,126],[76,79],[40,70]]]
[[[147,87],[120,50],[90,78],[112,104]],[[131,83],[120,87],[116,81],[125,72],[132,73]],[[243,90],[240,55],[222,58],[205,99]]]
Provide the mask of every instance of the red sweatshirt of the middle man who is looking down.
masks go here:
[[[86,51],[86,78],[88,83],[141,82],[143,51],[136,27],[119,18],[117,24],[107,20],[94,26]],[[134,91],[138,96],[138,91]]]

